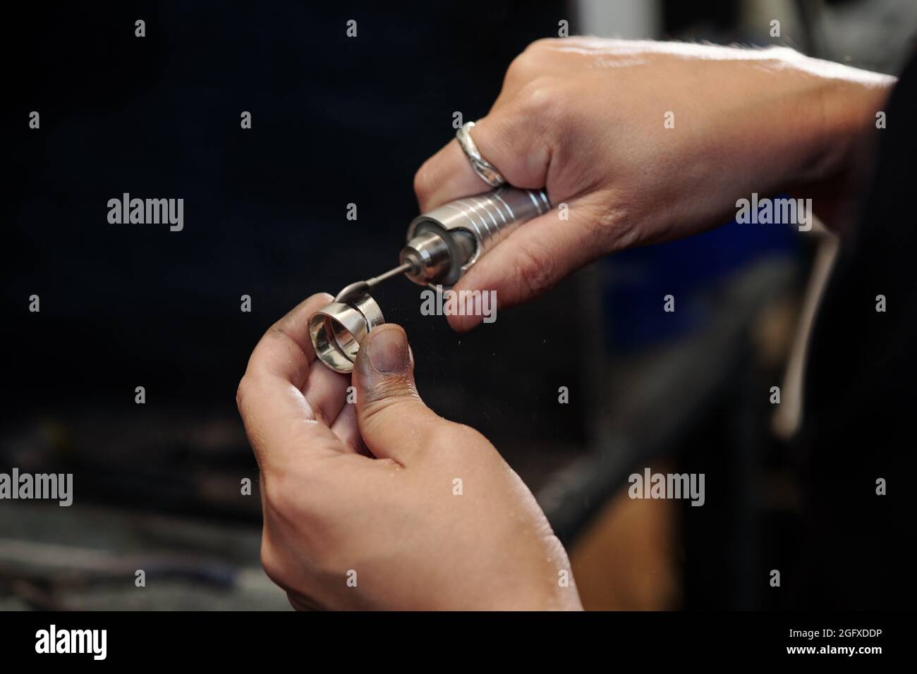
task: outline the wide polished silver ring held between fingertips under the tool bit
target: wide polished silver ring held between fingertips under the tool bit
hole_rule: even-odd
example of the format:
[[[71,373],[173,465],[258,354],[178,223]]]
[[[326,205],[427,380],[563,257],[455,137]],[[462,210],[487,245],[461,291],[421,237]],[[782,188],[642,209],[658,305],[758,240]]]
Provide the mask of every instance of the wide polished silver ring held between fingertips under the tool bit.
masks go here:
[[[309,319],[315,356],[336,372],[350,372],[359,345],[370,330],[385,323],[379,304],[369,294],[351,294],[319,309]]]

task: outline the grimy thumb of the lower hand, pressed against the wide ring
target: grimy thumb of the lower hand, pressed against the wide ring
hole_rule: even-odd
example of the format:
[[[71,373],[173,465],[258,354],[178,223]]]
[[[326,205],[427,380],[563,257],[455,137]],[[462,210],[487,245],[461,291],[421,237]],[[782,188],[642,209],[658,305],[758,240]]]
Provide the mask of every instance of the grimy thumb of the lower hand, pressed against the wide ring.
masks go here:
[[[417,394],[414,361],[401,326],[379,326],[363,340],[353,384],[359,433],[380,459],[407,465],[446,423]]]

